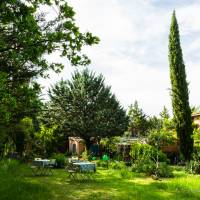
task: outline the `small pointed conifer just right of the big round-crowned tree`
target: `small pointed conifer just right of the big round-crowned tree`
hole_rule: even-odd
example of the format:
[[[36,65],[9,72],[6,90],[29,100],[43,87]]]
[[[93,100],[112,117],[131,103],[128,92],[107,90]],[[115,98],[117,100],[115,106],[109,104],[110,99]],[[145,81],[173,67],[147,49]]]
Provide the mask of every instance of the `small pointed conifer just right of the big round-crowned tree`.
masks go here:
[[[131,132],[132,136],[146,135],[148,129],[147,116],[144,114],[143,110],[139,108],[137,101],[135,101],[134,105],[129,107],[128,116],[128,130]]]

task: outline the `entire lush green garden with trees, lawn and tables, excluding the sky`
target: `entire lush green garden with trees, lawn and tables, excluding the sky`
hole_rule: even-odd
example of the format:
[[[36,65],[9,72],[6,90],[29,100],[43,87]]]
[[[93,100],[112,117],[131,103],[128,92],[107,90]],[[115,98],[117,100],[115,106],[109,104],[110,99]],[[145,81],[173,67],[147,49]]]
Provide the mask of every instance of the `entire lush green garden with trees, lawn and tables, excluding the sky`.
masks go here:
[[[0,199],[200,199],[200,109],[189,103],[179,37],[173,11],[172,115],[165,106],[147,115],[80,67],[91,62],[85,46],[100,39],[80,31],[66,1],[2,0]],[[44,94],[39,79],[66,67],[51,62],[55,53],[79,67]]]

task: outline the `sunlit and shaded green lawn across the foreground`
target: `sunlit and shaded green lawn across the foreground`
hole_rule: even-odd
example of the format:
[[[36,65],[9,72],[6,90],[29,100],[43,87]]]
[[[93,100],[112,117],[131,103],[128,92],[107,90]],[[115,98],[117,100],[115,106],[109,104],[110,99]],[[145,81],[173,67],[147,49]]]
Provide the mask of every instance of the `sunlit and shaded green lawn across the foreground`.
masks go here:
[[[34,177],[30,168],[0,163],[1,200],[196,200],[200,199],[200,177],[174,170],[171,179],[153,180],[128,170],[98,169],[96,180],[75,182],[63,169],[53,176]]]

